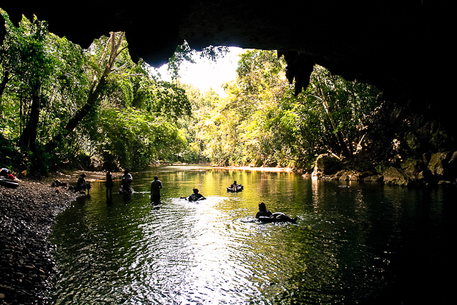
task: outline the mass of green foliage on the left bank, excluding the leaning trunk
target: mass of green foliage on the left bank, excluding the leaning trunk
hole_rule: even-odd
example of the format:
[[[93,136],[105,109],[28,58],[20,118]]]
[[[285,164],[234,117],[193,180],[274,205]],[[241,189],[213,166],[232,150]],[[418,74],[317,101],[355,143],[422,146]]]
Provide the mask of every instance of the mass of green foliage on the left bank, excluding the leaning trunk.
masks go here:
[[[191,114],[184,89],[154,79],[143,61],[131,61],[125,39],[116,54],[106,36],[84,50],[49,33],[45,21],[23,18],[16,27],[0,13],[7,31],[0,47],[0,133],[19,150],[19,136],[35,118],[37,134],[29,139],[36,148],[24,159],[35,160],[36,170],[114,160],[139,169],[187,147],[176,126]],[[76,114],[76,128],[66,129]]]

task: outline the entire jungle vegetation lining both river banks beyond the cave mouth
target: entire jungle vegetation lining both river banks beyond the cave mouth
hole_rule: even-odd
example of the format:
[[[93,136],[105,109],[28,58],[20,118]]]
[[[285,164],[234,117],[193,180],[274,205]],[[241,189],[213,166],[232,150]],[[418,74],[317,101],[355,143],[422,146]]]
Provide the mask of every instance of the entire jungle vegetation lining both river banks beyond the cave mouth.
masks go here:
[[[81,49],[49,33],[46,21],[14,26],[0,13],[0,165],[16,172],[176,161],[309,169],[321,154],[358,154],[376,133],[378,89],[316,65],[296,96],[276,51],[241,54],[221,98],[180,84],[179,64],[191,60],[186,44],[170,60],[174,79],[164,81],[131,61],[122,32]]]

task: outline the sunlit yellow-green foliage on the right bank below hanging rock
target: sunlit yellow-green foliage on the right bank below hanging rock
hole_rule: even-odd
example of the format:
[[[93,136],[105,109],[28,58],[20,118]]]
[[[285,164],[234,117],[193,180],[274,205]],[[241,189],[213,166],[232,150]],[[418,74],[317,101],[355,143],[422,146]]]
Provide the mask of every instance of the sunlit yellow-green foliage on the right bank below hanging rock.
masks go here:
[[[355,154],[378,106],[376,88],[316,66],[307,91],[295,96],[285,68],[274,51],[241,54],[228,96],[193,116],[188,141],[220,165],[311,169],[318,154]],[[201,102],[193,107],[201,109]]]

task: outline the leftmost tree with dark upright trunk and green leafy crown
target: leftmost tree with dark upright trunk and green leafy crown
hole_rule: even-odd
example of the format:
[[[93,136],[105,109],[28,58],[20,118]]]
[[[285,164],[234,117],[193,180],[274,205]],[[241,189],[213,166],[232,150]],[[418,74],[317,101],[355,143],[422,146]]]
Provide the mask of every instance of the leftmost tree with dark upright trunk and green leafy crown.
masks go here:
[[[19,115],[21,122],[24,121],[24,129],[19,129],[19,146],[35,151],[43,86],[49,86],[54,71],[51,55],[45,48],[49,32],[46,22],[36,17],[32,21],[23,18],[16,28],[5,11],[1,14],[6,21],[7,35],[1,46],[0,99],[6,85],[15,79],[16,84],[12,86],[16,87]]]

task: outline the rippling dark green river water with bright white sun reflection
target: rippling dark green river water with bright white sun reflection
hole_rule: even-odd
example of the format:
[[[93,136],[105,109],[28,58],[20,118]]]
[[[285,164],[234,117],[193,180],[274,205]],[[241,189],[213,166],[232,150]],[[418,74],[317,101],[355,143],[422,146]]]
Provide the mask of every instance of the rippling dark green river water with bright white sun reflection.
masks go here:
[[[161,179],[161,204],[149,186]],[[104,181],[49,236],[50,304],[448,304],[456,191],[161,166]],[[229,193],[233,180],[244,190]],[[114,192],[120,181],[115,181]],[[342,187],[348,186],[348,187]],[[196,187],[206,200],[192,203]],[[258,202],[296,224],[253,219]],[[453,286],[453,285],[452,285]]]

